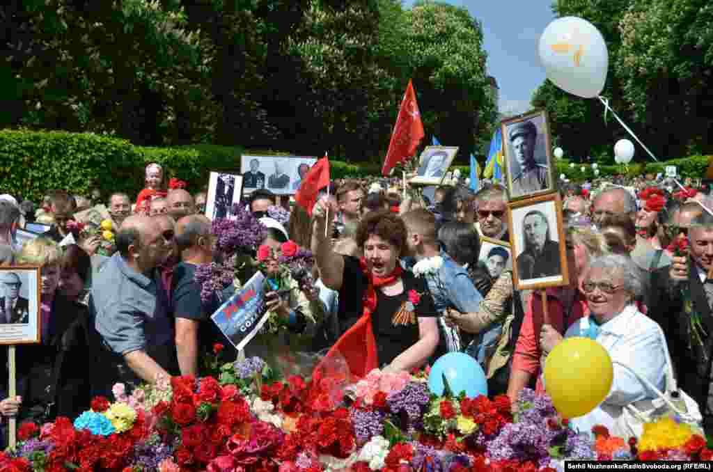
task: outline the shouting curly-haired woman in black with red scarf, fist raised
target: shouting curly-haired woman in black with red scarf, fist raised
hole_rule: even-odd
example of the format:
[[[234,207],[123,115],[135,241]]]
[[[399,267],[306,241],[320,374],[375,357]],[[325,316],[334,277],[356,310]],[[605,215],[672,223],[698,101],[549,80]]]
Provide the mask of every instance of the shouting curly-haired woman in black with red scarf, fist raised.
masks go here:
[[[424,279],[401,269],[406,225],[391,212],[370,212],[355,238],[364,257],[339,255],[325,237],[327,205],[314,207],[312,252],[324,284],[339,291],[340,329],[348,328],[327,357],[344,356],[355,376],[422,366],[438,346],[438,313]]]

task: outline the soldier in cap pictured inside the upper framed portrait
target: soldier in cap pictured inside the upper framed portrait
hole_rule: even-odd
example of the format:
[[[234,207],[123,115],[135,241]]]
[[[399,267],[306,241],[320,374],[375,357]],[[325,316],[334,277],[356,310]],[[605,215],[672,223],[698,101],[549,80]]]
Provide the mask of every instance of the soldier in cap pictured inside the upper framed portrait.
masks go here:
[[[548,161],[545,156],[535,157],[538,128],[533,120],[518,121],[506,126],[506,130],[510,150],[511,197],[524,197],[547,190],[550,187]]]

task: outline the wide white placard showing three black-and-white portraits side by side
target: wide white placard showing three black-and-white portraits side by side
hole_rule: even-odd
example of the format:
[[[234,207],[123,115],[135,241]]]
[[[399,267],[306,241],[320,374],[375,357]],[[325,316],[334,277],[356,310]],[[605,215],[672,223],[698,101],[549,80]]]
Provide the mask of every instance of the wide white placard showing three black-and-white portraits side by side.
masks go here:
[[[317,158],[297,155],[243,155],[240,159],[246,192],[265,188],[275,195],[297,193]]]

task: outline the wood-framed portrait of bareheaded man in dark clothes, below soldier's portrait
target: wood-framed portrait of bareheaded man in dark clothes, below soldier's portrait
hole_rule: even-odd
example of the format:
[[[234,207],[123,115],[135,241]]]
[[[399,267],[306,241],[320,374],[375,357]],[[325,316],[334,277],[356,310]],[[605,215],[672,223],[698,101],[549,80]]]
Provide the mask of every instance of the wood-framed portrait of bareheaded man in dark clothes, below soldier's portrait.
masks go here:
[[[560,195],[540,195],[508,204],[510,243],[518,290],[569,283]]]

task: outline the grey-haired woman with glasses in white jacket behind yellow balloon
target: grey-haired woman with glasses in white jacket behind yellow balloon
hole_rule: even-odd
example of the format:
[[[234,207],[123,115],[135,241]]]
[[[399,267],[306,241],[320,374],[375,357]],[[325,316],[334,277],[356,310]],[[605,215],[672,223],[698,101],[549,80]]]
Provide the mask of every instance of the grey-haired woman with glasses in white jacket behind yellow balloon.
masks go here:
[[[660,391],[665,389],[666,352],[661,327],[642,314],[635,299],[642,296],[642,273],[628,257],[595,257],[582,284],[590,316],[578,319],[565,338],[589,337],[600,343],[614,363],[614,380],[607,398],[585,416],[570,419],[579,431],[601,424],[615,426],[624,406],[655,398],[632,371],[644,376]]]

